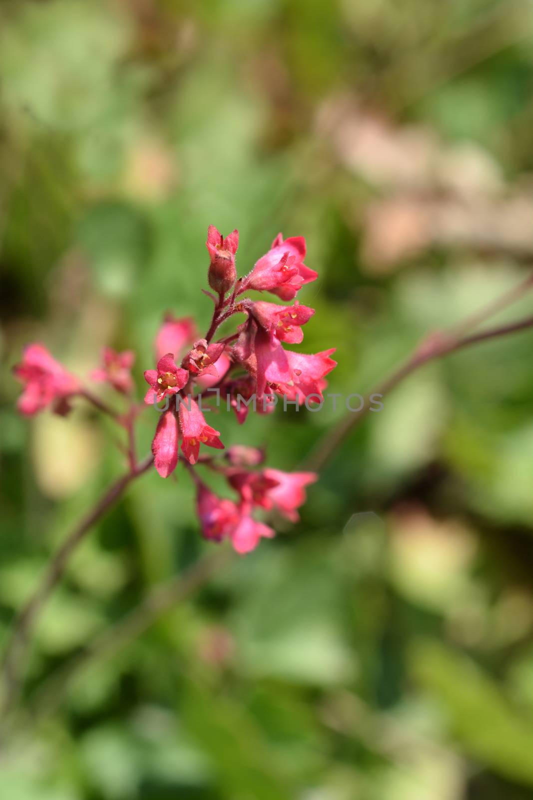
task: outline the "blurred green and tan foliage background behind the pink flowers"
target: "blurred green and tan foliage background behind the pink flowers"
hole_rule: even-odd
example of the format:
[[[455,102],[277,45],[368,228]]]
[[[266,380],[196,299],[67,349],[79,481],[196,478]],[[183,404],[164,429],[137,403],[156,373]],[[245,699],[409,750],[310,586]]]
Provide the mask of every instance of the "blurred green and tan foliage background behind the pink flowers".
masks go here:
[[[240,274],[281,230],[320,274],[300,292],[316,308],[301,349],[336,346],[330,391],[367,390],[531,268],[531,98],[530,2],[2,0],[2,639],[122,469],[89,410],[18,417],[22,346],[77,374],[105,344],[133,347],[141,391],[165,310],[209,323],[209,223],[239,229]],[[299,525],[34,720],[47,676],[213,547],[185,472],[131,486],[35,631],[0,796],[533,798],[532,344],[409,378]],[[294,470],[341,416],[217,427]]]

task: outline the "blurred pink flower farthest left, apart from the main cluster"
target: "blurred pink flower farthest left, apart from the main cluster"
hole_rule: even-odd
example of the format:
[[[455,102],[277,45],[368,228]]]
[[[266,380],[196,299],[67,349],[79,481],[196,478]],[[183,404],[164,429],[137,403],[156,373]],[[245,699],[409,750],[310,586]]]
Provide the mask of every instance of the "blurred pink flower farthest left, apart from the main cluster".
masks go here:
[[[42,344],[28,345],[24,349],[22,362],[14,366],[13,371],[25,384],[17,405],[21,414],[28,417],[54,400],[67,398],[81,389],[78,378],[52,358]]]

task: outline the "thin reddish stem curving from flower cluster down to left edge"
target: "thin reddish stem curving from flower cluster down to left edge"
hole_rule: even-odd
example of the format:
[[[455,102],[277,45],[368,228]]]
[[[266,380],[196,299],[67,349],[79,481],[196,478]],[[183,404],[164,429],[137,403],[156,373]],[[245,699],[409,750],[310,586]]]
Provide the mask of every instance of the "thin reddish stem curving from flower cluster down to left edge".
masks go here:
[[[138,478],[141,474],[145,473],[146,470],[149,470],[152,463],[152,456],[145,458],[143,462],[133,469],[130,469],[110,486],[109,490],[107,490],[101,500],[97,502],[96,506],[89,511],[89,514],[82,519],[82,522],[67,536],[62,546],[60,546],[59,550],[54,554],[54,557],[46,567],[46,571],[37,588],[34,590],[34,593],[19,612],[18,617],[15,619],[6,650],[2,656],[2,662],[0,662],[0,677],[2,678],[5,692],[2,700],[2,710],[4,712],[9,709],[18,698],[22,680],[22,663],[26,654],[30,633],[34,628],[35,622],[46,600],[50,597],[54,587],[57,586],[65,573],[70,556],[85,538],[94,523],[103,517],[106,511],[113,506],[113,503],[121,497],[126,486],[128,486],[134,478]]]

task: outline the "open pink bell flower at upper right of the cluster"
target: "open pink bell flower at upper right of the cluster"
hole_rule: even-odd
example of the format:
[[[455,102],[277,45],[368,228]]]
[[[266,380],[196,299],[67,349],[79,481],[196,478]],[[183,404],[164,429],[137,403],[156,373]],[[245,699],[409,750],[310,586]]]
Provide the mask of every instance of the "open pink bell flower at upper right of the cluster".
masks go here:
[[[296,292],[317,278],[315,270],[304,265],[305,239],[293,236],[284,239],[278,234],[268,253],[256,262],[245,278],[242,290],[271,291],[282,300],[292,300]]]

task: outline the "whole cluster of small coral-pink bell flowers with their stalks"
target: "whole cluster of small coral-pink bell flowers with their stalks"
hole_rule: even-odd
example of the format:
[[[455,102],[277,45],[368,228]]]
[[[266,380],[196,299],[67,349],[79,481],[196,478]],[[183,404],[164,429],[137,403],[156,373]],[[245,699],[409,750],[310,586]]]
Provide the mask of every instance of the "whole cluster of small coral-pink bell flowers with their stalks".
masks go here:
[[[205,337],[198,338],[192,319],[165,318],[154,343],[156,366],[145,370],[149,387],[145,405],[160,401],[166,404],[165,410],[160,411],[152,442],[157,472],[168,478],[177,467],[181,449],[184,464],[197,486],[197,511],[203,535],[215,541],[228,538],[237,552],[247,553],[261,538],[274,535],[265,522],[253,518],[254,511],[276,510],[292,522],[297,521],[297,509],[305,501],[304,488],[316,481],[317,476],[269,468],[258,470],[263,454],[245,446],[229,448],[225,457],[218,460],[209,451],[201,453],[202,445],[224,450],[220,432],[205,421],[202,390],[216,387],[225,393],[238,422],[242,423],[249,407],[241,406],[239,398],[251,398],[254,394],[263,401],[257,406],[258,413],[273,410],[273,395],[284,395],[298,404],[321,402],[325,376],[336,362],[330,358],[334,349],[302,354],[284,348],[284,344],[302,342],[302,326],[315,313],[295,300],[300,288],[317,277],[314,270],[304,265],[304,238],[284,239],[279,234],[268,253],[244,278],[237,278],[238,242],[237,230],[224,238],[214,226],[209,226],[208,282],[215,294],[204,291],[214,304],[211,325]],[[294,302],[285,306],[254,300],[245,296],[251,290],[269,291],[281,300]],[[234,314],[244,314],[245,322],[233,329],[233,334],[215,340],[218,327]],[[132,468],[135,465],[132,426],[138,413],[131,399],[133,362],[130,350],[117,353],[105,348],[101,366],[90,376],[129,398],[126,414],[110,413],[129,430]],[[46,406],[66,413],[70,399],[76,395],[109,412],[109,406],[94,398],[41,344],[26,348],[14,374],[24,384],[18,401],[22,414],[35,414]],[[170,404],[169,399],[174,403]],[[223,474],[235,493],[234,498],[214,494],[198,476],[198,464]]]

